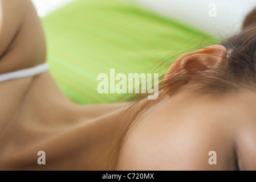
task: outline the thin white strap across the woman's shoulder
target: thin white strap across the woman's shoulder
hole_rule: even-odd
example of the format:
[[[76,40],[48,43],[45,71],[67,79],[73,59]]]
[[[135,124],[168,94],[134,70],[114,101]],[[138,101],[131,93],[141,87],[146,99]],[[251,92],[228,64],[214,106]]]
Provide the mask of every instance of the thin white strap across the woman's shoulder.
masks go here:
[[[32,68],[21,69],[19,71],[14,71],[10,73],[4,73],[0,75],[0,82],[39,75],[40,73],[46,72],[47,70],[48,63],[39,64]]]

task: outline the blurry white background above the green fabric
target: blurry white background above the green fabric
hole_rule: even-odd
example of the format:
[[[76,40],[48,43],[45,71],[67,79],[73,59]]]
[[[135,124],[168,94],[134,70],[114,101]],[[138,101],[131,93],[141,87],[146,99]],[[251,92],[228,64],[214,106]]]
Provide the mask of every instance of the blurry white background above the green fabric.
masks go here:
[[[32,0],[44,5],[46,15],[76,0]],[[86,1],[86,0],[84,0]],[[108,0],[104,0],[108,1]],[[242,20],[253,7],[255,0],[120,0],[131,1],[144,9],[176,19],[213,35],[237,32]],[[216,16],[209,16],[209,4],[216,3]]]

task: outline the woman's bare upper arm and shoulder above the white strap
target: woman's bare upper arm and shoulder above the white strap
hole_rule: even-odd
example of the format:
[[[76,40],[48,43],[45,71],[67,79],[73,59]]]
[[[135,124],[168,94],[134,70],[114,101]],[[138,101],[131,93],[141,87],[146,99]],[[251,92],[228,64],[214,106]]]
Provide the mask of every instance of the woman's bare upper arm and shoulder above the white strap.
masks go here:
[[[0,74],[46,59],[43,28],[30,0],[1,0]]]

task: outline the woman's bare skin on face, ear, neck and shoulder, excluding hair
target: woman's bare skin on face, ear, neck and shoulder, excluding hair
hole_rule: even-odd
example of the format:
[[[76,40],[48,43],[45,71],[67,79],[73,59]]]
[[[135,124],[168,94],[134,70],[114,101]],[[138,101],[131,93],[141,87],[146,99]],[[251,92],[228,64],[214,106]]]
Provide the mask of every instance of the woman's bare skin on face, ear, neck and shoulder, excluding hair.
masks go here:
[[[43,63],[44,35],[31,2],[0,2],[0,74]],[[182,55],[166,75],[180,68],[201,69],[200,60],[218,54],[225,55],[225,47]],[[192,60],[198,64],[191,64]],[[219,61],[223,60],[206,62],[204,68]],[[233,170],[237,158],[240,169],[256,169],[256,93],[242,90],[225,97],[186,97],[194,84],[191,80],[176,94],[166,94],[136,122],[124,140],[117,170]],[[109,155],[128,115],[118,123],[116,119],[128,102],[74,104],[48,72],[2,82],[0,96],[0,169],[112,169]],[[37,164],[41,150],[46,152],[43,166]],[[209,151],[217,152],[217,165],[208,163]]]

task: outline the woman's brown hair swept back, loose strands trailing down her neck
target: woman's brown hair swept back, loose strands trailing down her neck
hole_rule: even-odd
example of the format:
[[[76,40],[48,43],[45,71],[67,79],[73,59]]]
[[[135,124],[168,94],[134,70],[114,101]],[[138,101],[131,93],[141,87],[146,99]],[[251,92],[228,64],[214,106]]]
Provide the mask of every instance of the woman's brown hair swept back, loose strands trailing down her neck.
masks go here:
[[[147,100],[142,97],[124,111],[123,115],[130,115],[131,117],[129,118],[130,122],[121,130],[123,134],[114,147],[113,169],[116,168],[119,153],[129,129],[152,105],[161,101],[167,94],[172,95],[177,92],[191,78],[197,82],[197,86],[191,88],[190,96],[202,96],[203,94],[224,96],[231,92],[239,92],[242,89],[256,89],[256,8],[246,16],[241,31],[227,38],[220,45],[227,49],[227,56],[222,57],[225,60],[222,61],[222,64],[210,68],[208,72],[191,69],[188,74],[187,71],[181,69],[165,81],[163,81],[164,76],[162,76],[160,84],[155,85],[159,86],[160,90],[157,100]],[[132,113],[134,110],[135,113]]]

